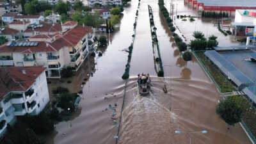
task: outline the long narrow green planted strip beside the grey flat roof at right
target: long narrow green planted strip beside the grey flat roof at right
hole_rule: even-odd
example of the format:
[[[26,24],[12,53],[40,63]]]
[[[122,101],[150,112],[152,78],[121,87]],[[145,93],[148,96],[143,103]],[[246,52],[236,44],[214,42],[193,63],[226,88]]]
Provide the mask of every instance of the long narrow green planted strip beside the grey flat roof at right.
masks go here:
[[[236,91],[236,88],[228,81],[228,79],[221,74],[220,70],[204,55],[205,51],[195,51],[197,58],[202,62],[201,64],[205,68],[205,71],[209,72],[209,75],[218,84],[221,93]],[[217,86],[217,87],[218,87]]]

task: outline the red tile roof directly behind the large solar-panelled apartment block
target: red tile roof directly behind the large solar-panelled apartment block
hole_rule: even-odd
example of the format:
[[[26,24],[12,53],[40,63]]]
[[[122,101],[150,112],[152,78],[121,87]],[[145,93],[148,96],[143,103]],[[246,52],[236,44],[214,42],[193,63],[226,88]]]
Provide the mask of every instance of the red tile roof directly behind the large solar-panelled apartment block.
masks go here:
[[[62,28],[61,24],[55,24],[54,26],[52,26],[52,24],[44,24],[42,27],[35,28],[34,30],[32,28],[28,28],[24,31],[24,33],[32,33],[33,31],[58,33],[62,31]]]

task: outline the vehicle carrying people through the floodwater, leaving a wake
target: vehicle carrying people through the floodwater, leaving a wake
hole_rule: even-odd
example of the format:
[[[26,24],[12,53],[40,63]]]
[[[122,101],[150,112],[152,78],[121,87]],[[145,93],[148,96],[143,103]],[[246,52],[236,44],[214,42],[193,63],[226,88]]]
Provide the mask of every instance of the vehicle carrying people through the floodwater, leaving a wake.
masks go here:
[[[141,96],[148,95],[150,86],[151,86],[151,80],[149,75],[147,76],[145,74],[138,74],[138,88],[139,88],[139,93]]]

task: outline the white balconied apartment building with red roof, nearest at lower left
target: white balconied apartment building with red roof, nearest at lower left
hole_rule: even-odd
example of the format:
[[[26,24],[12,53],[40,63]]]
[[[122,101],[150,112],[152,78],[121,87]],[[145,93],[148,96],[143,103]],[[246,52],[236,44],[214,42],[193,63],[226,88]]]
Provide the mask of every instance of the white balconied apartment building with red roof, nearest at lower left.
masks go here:
[[[0,68],[0,135],[16,116],[38,115],[49,102],[49,92],[42,67]]]

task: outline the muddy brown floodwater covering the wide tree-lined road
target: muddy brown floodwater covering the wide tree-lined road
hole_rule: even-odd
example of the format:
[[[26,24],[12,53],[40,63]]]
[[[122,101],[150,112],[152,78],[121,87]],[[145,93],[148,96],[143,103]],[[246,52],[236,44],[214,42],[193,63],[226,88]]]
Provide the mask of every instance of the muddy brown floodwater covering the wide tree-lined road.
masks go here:
[[[197,144],[249,144],[250,141],[240,125],[237,124],[227,130],[225,122],[216,115],[215,108],[221,95],[195,58],[188,63],[182,60],[157,3],[157,0],[141,0],[131,60],[131,79],[125,92],[118,143],[182,144],[189,143],[190,137],[192,143]],[[195,13],[184,6],[183,1],[177,3],[179,3],[179,12]],[[165,78],[156,77],[148,4],[153,9]],[[132,0],[131,5],[125,8],[120,29],[109,36],[108,47],[99,49],[103,55],[96,56],[93,61],[95,71],[83,87],[79,111],[72,120],[55,125],[56,131],[49,134],[47,144],[115,143],[114,136],[118,125],[111,120],[111,116],[114,113],[120,116],[125,88],[121,76],[127,63],[127,53],[122,50],[131,44],[137,6],[138,0]],[[209,34],[218,33],[218,29],[211,28],[213,26],[211,22],[196,21],[198,22],[196,26],[200,24],[205,29],[209,28]],[[194,31],[187,28],[186,24],[181,24],[180,28],[184,28],[182,31],[186,36],[191,36],[191,31]],[[226,40],[231,44],[228,37]],[[141,72],[152,76],[152,92],[147,97],[138,95],[135,76]],[[74,85],[80,86],[83,79],[81,77],[86,74],[85,70],[81,70],[77,74],[79,77],[74,78],[72,83],[77,82]],[[168,87],[166,94],[162,92],[164,84]],[[114,111],[114,108],[109,108],[109,104],[114,106],[116,102],[117,108]],[[175,134],[175,130],[207,130],[208,133]]]

